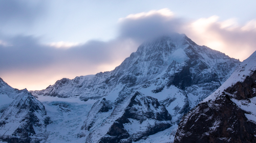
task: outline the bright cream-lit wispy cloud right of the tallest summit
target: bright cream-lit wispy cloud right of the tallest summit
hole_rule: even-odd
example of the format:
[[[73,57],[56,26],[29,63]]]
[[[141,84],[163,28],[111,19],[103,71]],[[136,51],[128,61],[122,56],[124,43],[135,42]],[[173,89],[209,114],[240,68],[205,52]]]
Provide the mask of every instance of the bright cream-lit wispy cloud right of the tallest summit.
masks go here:
[[[242,61],[256,50],[255,20],[239,25],[236,19],[220,21],[218,16],[211,16],[188,23],[183,32],[199,45]]]

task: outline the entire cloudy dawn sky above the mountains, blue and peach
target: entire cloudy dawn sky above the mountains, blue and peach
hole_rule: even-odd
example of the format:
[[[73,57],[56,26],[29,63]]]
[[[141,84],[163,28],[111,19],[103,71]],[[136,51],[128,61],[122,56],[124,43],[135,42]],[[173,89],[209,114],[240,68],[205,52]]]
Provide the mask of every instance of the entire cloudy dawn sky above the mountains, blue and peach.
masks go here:
[[[183,33],[240,61],[256,50],[256,1],[0,1],[0,77],[42,90],[111,71],[147,39]]]

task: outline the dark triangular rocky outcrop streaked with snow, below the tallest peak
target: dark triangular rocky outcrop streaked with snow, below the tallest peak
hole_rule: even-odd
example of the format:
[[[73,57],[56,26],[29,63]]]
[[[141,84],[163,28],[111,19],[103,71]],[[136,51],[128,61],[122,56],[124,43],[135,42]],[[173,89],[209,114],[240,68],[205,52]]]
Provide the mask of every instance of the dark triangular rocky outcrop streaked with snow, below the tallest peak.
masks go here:
[[[100,141],[138,141],[146,138],[148,135],[169,128],[172,126],[171,120],[172,117],[165,107],[159,104],[157,99],[136,92],[131,98],[129,105],[125,108],[123,115],[111,126],[107,133],[109,136],[103,136]],[[147,124],[151,125],[148,126]],[[143,130],[133,130],[129,126],[137,126],[143,128]]]

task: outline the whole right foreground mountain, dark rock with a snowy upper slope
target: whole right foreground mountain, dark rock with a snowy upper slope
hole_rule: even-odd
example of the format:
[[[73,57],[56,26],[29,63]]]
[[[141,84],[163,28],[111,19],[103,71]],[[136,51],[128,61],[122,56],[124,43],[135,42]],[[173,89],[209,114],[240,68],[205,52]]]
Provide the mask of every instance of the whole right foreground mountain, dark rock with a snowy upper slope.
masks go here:
[[[256,52],[183,117],[175,142],[256,142]]]

